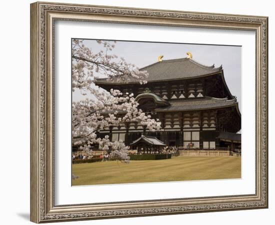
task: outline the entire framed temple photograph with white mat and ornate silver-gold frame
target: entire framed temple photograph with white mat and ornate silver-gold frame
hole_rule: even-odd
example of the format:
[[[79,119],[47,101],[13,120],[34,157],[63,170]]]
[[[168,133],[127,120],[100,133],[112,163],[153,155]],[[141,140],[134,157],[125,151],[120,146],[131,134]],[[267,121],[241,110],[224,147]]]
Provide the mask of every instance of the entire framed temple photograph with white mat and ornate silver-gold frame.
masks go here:
[[[268,206],[267,17],[30,9],[31,221]]]

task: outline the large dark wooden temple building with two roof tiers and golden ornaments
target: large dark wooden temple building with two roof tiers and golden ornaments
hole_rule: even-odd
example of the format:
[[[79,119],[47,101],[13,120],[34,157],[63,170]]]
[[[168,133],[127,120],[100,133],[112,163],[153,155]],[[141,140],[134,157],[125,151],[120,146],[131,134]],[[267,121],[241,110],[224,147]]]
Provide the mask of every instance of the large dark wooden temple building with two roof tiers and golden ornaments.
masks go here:
[[[240,111],[226,85],[222,66],[202,65],[189,53],[186,58],[169,60],[159,56],[156,63],[140,70],[149,74],[146,84],[134,78],[127,83],[101,78],[96,85],[108,91],[113,88],[133,93],[142,111],[161,121],[161,130],[151,132],[130,122],[100,131],[99,135],[107,133],[126,145],[139,141],[142,135],[155,137],[166,146],[178,147],[183,155],[188,150],[240,153]]]

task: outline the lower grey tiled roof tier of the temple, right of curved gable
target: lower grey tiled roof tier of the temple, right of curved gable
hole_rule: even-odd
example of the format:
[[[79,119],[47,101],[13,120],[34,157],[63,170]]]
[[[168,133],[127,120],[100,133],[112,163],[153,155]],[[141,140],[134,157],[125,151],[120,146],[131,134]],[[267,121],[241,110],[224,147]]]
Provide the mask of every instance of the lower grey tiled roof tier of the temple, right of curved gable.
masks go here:
[[[227,100],[227,98],[201,97],[182,100],[170,100],[167,107],[156,108],[155,111],[188,111],[208,108],[219,108],[235,105],[236,99]]]

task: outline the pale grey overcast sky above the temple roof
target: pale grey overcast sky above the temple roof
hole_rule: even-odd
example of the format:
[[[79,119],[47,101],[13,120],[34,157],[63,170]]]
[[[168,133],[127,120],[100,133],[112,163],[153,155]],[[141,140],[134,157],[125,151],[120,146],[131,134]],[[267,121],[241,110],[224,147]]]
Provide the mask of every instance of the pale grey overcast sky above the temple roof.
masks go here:
[[[103,50],[95,40],[84,40],[83,43],[93,52]],[[164,55],[163,60],[183,58],[188,51],[192,53],[192,59],[201,64],[214,64],[215,67],[222,64],[225,81],[231,94],[237,96],[241,110],[241,46],[116,41],[111,53],[141,68],[157,62],[159,55]],[[79,91],[73,92],[72,100],[79,99],[83,99]]]

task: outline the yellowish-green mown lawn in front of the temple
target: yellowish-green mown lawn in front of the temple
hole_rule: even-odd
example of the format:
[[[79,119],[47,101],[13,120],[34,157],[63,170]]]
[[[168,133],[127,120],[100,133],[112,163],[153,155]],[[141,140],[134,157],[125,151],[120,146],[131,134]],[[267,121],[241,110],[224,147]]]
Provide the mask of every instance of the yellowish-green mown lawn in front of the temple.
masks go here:
[[[92,162],[72,164],[72,173],[79,176],[72,185],[240,178],[240,171],[237,156]]]

